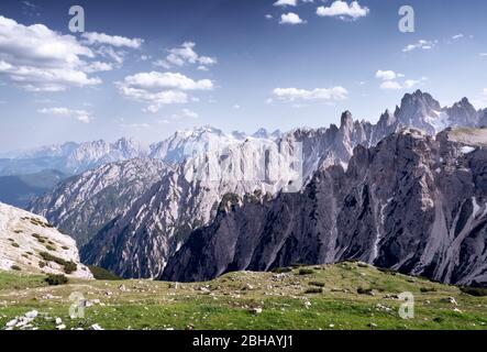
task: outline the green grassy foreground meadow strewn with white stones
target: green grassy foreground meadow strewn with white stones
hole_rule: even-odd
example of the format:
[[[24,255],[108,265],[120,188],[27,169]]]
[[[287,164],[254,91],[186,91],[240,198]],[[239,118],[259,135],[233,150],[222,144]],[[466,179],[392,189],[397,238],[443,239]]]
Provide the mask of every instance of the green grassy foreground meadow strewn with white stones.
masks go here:
[[[487,328],[487,297],[362,263],[231,273],[196,284],[73,279],[46,286],[43,278],[0,272],[1,328],[24,321],[27,329]],[[414,295],[413,319],[398,315],[402,292]],[[86,299],[84,319],[69,318],[73,293]]]

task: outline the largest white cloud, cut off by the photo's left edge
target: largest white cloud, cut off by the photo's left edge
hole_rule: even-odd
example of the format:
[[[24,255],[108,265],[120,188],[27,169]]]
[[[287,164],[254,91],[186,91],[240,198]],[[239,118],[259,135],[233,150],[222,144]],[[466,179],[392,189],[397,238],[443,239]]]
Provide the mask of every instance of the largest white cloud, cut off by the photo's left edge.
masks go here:
[[[71,35],[62,35],[43,24],[23,25],[0,15],[0,75],[31,91],[59,91],[95,86],[87,64],[95,53]]]

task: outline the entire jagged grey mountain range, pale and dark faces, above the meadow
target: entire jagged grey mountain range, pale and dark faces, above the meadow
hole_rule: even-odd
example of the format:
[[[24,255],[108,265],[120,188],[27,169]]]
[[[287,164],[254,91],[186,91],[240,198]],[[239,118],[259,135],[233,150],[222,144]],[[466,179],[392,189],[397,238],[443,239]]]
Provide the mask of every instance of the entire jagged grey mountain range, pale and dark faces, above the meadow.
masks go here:
[[[30,209],[73,233],[84,262],[124,277],[192,280],[292,261],[361,258],[444,282],[482,284],[482,253],[464,250],[484,233],[475,231],[485,220],[482,183],[464,184],[484,177],[482,167],[472,165],[482,165],[484,130],[439,132],[480,128],[486,112],[466,98],[443,108],[418,90],[375,124],[346,111],[340,125],[330,128],[244,135],[204,127],[147,148],[115,143],[102,147],[103,154],[85,146],[69,152],[82,162],[67,165],[71,172],[95,168],[62,183]],[[122,146],[137,152],[120,152]],[[471,153],[458,152],[466,148]],[[113,157],[122,161],[111,174],[113,164],[106,161]],[[136,180],[121,170],[134,157],[137,165],[126,169],[134,167]],[[154,160],[164,163],[155,167]],[[214,170],[217,177],[210,177]],[[446,178],[452,185],[443,184]],[[122,189],[126,194],[118,197]],[[412,213],[408,221],[417,226],[390,223]],[[462,233],[452,230],[458,221]],[[451,238],[458,243],[452,245]],[[456,252],[443,248],[462,252],[469,270],[460,270]],[[202,263],[207,267],[197,268]]]

